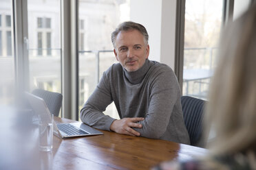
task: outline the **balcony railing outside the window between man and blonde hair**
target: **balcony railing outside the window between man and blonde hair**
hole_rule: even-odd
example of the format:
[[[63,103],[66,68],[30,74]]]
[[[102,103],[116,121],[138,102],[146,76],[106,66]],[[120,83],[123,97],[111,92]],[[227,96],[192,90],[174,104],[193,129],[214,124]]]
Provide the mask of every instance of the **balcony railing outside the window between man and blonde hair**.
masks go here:
[[[184,49],[183,95],[206,99],[217,47]]]

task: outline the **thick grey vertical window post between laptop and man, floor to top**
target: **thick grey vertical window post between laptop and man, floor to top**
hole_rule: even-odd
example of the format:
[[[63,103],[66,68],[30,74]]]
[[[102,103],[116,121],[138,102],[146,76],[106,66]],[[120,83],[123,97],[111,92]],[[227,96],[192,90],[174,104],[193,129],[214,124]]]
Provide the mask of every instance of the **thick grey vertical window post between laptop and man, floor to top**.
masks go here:
[[[78,120],[77,0],[61,1],[63,117]]]

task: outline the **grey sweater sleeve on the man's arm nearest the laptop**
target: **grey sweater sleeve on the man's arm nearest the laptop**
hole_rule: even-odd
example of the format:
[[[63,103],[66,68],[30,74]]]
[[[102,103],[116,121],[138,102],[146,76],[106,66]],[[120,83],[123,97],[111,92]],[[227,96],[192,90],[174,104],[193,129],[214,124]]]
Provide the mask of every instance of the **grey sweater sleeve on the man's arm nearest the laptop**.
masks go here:
[[[87,99],[80,114],[83,123],[100,130],[109,130],[111,123],[115,120],[103,113],[107,106],[113,101],[108,83],[109,78],[107,74],[109,70],[103,73],[103,77],[92,95]]]

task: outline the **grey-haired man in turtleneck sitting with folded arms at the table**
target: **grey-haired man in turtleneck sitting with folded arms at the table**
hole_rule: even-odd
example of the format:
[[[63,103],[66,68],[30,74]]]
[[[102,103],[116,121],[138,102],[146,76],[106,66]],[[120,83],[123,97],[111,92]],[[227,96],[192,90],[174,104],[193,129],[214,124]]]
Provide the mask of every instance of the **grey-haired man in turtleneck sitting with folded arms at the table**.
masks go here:
[[[150,61],[144,26],[121,23],[111,34],[118,64],[103,73],[81,110],[81,120],[101,130],[189,144],[180,87],[171,68]],[[114,101],[120,120],[105,114]]]

